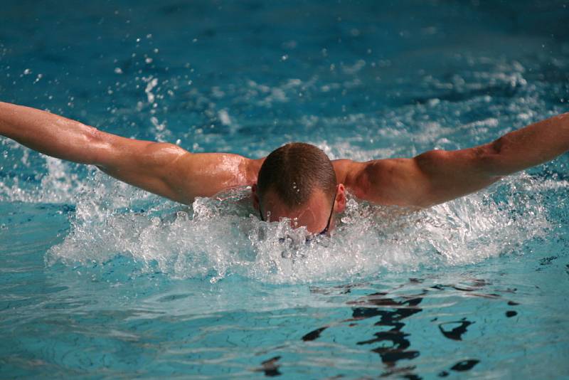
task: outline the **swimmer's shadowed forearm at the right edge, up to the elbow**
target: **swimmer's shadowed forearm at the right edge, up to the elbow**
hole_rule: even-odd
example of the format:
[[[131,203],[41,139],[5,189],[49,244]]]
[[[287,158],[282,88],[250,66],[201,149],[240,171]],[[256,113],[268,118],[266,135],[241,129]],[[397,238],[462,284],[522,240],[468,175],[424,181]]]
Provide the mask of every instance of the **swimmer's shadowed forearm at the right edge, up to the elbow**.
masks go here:
[[[569,113],[505,134],[489,147],[485,164],[494,176],[548,162],[569,151]]]

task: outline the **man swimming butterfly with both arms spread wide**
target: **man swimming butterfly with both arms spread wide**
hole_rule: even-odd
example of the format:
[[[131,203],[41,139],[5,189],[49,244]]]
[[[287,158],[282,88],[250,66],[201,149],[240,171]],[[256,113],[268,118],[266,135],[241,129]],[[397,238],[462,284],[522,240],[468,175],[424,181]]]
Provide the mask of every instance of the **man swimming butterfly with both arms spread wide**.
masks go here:
[[[0,134],[51,157],[95,165],[120,181],[182,204],[251,186],[262,220],[289,218],[293,226],[317,234],[334,228],[334,214],[344,211],[346,191],[373,204],[426,208],[548,162],[569,151],[569,113],[478,147],[368,162],[331,161],[302,142],[261,159],[191,153],[175,144],[127,139],[5,102],[0,102]]]

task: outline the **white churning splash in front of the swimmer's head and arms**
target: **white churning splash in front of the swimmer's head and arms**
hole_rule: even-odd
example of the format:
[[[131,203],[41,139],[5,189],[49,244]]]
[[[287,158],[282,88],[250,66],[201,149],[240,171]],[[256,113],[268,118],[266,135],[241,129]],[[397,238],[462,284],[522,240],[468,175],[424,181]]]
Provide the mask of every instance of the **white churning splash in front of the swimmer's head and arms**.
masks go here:
[[[332,236],[305,243],[303,228],[260,221],[249,189],[196,199],[187,207],[102,174],[88,182],[68,236],[46,255],[48,265],[88,268],[126,255],[143,273],[211,282],[241,275],[269,283],[361,280],[511,253],[544,236],[550,223],[540,194],[561,186],[519,174],[418,212],[351,198]]]

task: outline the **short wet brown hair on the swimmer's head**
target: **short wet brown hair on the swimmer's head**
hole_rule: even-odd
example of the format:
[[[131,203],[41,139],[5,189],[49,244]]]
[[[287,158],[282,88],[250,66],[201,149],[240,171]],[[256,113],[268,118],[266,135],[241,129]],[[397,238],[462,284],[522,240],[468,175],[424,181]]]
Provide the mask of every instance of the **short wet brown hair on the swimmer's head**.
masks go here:
[[[272,151],[263,162],[257,177],[262,198],[275,191],[291,209],[306,204],[314,189],[329,194],[336,192],[336,171],[326,153],[314,145],[291,142]]]

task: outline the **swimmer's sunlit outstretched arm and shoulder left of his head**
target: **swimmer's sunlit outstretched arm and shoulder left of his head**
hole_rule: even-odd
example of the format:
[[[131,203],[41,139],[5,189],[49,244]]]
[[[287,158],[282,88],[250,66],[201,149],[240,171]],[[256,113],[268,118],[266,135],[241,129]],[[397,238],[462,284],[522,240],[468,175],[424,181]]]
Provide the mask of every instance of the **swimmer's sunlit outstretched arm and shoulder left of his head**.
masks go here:
[[[252,185],[262,163],[238,154],[193,154],[175,144],[127,139],[5,102],[0,102],[0,134],[51,157],[95,165],[127,184],[183,204]]]

